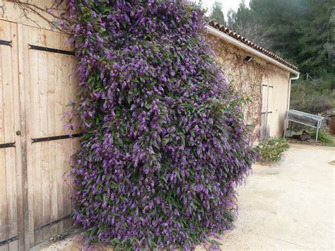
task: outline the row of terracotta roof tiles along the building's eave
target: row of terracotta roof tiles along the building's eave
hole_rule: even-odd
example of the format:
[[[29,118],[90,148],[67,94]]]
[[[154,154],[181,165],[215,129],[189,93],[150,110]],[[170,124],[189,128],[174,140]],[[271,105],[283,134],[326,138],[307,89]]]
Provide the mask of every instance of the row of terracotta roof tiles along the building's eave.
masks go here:
[[[214,21],[209,21],[208,25],[210,25],[213,28],[216,28],[217,30],[220,30],[222,33],[225,33],[225,34],[229,35],[230,37],[235,38],[235,40],[238,40],[238,41],[244,43],[245,45],[248,45],[249,47],[252,47],[253,49],[256,49],[257,51],[265,54],[266,56],[271,57],[272,59],[275,59],[276,61],[280,62],[281,64],[284,64],[284,65],[290,67],[290,69],[298,71],[297,66],[294,66],[293,64],[290,64],[285,59],[282,59],[281,57],[278,57],[276,54],[274,54],[272,52],[269,52],[269,50],[264,49],[263,47],[260,47],[259,45],[254,44],[252,41],[247,40],[247,38],[242,37],[241,35],[238,35],[237,33],[234,33],[233,30],[229,30],[224,25],[221,25],[221,24],[216,23]]]

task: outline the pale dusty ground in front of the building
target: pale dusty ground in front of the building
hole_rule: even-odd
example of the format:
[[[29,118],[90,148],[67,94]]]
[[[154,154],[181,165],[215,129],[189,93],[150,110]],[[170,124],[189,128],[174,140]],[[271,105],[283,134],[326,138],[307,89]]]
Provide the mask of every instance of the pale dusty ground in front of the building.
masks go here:
[[[335,148],[291,144],[281,163],[254,165],[222,250],[334,250]],[[33,250],[79,250],[78,234]],[[196,247],[196,250],[204,250]]]

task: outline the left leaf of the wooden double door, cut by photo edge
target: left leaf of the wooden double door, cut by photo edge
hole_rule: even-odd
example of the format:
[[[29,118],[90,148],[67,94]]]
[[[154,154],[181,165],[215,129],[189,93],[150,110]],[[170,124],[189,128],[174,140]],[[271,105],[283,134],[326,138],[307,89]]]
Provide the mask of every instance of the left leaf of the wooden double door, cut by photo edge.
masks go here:
[[[0,21],[0,250],[24,248],[17,32]]]

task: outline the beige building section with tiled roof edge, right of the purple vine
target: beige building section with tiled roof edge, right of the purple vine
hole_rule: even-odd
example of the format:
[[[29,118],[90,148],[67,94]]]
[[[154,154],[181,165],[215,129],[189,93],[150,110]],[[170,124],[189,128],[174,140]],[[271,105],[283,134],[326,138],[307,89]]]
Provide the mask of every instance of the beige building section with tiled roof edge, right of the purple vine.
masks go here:
[[[282,136],[290,83],[299,78],[297,67],[223,25],[210,21],[206,29],[228,83],[249,100],[245,122],[251,140]]]

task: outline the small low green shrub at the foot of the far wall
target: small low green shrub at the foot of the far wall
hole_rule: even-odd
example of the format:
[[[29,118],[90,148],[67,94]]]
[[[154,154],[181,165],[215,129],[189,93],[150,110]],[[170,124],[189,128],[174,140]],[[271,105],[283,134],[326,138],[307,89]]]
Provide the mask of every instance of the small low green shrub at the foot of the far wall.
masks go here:
[[[277,162],[290,146],[283,138],[265,138],[259,144],[259,160],[261,162]]]

